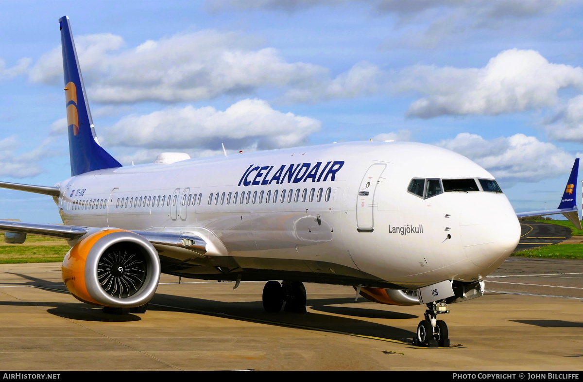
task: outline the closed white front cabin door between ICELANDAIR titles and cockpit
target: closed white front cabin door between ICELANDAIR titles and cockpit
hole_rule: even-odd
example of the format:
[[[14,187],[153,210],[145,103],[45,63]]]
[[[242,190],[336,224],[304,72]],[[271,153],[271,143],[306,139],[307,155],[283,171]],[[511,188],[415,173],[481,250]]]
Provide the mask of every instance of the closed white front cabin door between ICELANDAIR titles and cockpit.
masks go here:
[[[363,180],[360,182],[359,194],[356,199],[356,227],[358,232],[373,232],[374,191],[377,189],[378,179],[385,168],[387,168],[387,164],[373,164],[368,167]]]

